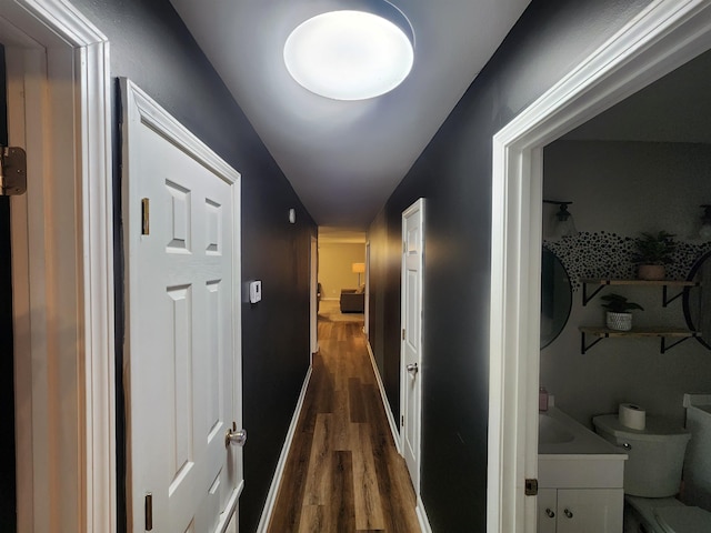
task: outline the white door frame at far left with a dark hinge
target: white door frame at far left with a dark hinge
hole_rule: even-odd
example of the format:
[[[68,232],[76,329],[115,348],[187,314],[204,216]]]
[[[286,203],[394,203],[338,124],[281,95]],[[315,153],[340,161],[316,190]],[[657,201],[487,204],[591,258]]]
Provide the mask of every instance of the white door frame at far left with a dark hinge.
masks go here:
[[[1,0],[8,58],[18,531],[116,531],[108,41],[64,0]],[[24,112],[18,111],[26,105]]]

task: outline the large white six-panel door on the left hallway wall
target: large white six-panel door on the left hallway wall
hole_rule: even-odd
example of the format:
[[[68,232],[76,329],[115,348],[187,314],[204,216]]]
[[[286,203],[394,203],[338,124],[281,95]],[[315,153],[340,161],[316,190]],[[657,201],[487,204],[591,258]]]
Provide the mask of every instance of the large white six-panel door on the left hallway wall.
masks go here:
[[[219,532],[243,480],[226,439],[241,428],[239,174],[127,80],[122,95],[129,524]]]

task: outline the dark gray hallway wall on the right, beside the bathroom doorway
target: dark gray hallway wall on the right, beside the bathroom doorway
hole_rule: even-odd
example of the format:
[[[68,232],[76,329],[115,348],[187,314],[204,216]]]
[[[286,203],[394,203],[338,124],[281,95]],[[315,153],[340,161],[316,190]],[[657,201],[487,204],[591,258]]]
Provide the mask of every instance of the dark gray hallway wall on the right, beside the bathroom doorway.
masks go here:
[[[371,342],[399,418],[400,215],[425,198],[421,494],[435,532],[485,530],[491,139],[647,3],[533,0],[370,229]]]

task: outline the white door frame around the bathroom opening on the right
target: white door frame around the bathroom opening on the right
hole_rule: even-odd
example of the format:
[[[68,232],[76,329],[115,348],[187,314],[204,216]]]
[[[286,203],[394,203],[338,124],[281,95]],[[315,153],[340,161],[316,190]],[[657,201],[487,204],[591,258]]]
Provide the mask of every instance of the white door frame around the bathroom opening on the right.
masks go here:
[[[535,531],[543,147],[711,48],[711,0],[655,0],[493,138],[488,533]]]

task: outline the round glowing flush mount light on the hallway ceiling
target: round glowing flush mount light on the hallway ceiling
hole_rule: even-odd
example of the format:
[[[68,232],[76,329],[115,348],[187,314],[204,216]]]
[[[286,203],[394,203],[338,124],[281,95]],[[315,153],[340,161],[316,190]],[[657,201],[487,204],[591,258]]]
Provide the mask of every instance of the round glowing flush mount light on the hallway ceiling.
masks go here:
[[[364,100],[398,87],[414,60],[410,21],[384,0],[318,14],[298,26],[284,44],[291,77],[334,100]]]

